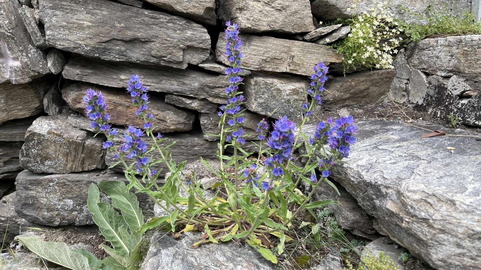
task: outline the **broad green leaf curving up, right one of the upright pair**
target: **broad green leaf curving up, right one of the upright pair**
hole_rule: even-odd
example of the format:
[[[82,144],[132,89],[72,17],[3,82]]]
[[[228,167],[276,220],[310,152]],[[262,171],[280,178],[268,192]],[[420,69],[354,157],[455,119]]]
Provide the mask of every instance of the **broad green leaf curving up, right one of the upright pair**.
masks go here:
[[[119,209],[131,231],[137,230],[144,223],[142,209],[139,208],[137,196],[127,191],[127,186],[121,181],[102,181],[100,189],[112,198],[112,206]]]

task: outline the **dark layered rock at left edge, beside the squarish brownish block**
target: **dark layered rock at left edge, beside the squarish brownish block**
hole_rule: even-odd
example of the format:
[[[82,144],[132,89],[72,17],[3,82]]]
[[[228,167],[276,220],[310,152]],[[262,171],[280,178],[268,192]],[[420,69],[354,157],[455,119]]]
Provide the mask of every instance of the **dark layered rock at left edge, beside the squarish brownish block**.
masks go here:
[[[15,179],[16,174],[22,170],[18,154],[23,142],[0,143],[0,180]]]

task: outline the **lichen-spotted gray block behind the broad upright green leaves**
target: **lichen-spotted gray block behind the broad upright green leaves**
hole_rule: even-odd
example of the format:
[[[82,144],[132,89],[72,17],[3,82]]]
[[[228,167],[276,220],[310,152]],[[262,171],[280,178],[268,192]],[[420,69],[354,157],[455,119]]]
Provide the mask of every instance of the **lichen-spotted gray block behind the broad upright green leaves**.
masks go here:
[[[48,226],[94,224],[87,207],[90,184],[101,181],[127,182],[123,173],[111,170],[74,172],[66,174],[34,173],[27,170],[17,176],[15,211],[30,222]],[[105,195],[102,201],[107,201]],[[139,196],[141,207],[152,209],[149,198]]]

